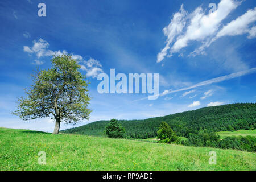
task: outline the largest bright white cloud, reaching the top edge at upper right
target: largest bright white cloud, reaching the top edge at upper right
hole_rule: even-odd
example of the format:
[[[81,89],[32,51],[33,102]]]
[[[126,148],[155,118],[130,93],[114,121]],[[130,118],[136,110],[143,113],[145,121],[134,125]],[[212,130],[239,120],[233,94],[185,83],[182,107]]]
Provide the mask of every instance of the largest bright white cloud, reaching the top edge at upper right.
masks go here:
[[[173,53],[187,47],[190,42],[199,41],[207,44],[217,34],[222,20],[236,9],[238,5],[240,5],[240,2],[236,0],[221,0],[218,3],[217,10],[210,14],[205,14],[205,10],[202,7],[197,7],[193,13],[188,14],[183,9],[183,6],[181,6],[180,11],[175,14],[176,16],[174,15],[171,23],[164,29],[166,30],[164,35],[168,35],[167,44],[158,53],[157,62],[159,63],[164,59],[167,51],[170,52],[170,55],[168,55],[170,57]],[[185,27],[185,24],[188,24],[188,26]],[[185,29],[185,32],[183,32],[183,29]],[[175,38],[176,40],[174,41]],[[204,47],[200,47],[191,55],[196,55],[199,52],[204,53]]]

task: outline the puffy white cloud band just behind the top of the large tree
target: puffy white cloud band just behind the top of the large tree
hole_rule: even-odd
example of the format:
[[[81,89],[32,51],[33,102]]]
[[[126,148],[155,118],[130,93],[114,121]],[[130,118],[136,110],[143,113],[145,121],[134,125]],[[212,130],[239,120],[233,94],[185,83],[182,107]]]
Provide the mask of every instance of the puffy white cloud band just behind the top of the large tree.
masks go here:
[[[40,61],[39,59],[41,57],[46,57],[46,56],[61,56],[61,55],[66,55],[68,54],[67,51],[52,51],[48,49],[49,43],[46,40],[39,39],[38,41],[34,40],[33,41],[33,46],[23,46],[23,51],[27,52],[29,54],[35,54],[37,59],[34,60],[33,64],[43,64],[44,61]],[[78,63],[81,65],[81,69],[86,71],[86,76],[87,77],[93,77],[96,78],[98,74],[103,73],[102,70],[102,65],[100,64],[100,61],[90,58],[89,60],[84,60],[82,56],[80,55],[73,55],[71,54],[72,59],[75,59],[78,61]]]

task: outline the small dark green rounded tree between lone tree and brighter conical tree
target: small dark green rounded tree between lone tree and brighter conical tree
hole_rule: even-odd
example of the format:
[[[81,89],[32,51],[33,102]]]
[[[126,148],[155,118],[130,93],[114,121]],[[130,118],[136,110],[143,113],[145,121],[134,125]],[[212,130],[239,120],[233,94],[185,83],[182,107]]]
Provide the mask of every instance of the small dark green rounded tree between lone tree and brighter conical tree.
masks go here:
[[[118,123],[117,119],[111,119],[110,123],[106,126],[105,134],[109,138],[123,138],[125,129]]]

